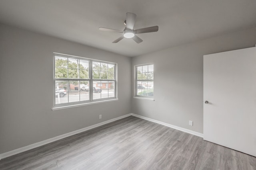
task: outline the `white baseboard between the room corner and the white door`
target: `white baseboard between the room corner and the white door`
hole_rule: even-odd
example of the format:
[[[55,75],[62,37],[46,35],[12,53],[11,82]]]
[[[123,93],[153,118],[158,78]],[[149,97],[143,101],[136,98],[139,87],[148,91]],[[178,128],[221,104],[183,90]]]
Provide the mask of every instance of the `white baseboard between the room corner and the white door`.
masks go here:
[[[134,113],[131,113],[131,115],[132,115],[132,116],[135,116],[135,117],[139,117],[139,118],[141,118],[141,119],[145,119],[145,120],[148,120],[148,121],[152,121],[152,122],[154,122],[154,123],[158,123],[158,124],[160,124],[160,125],[164,125],[164,126],[167,126],[167,127],[171,127],[171,128],[173,128],[173,129],[177,129],[177,130],[182,131],[182,132],[190,133],[190,134],[196,135],[196,136],[198,136],[198,137],[202,137],[202,138],[204,137],[204,134],[198,133],[198,132],[195,132],[195,131],[191,131],[191,130],[189,130],[189,129],[185,129],[185,128],[178,127],[178,126],[175,126],[175,125],[171,125],[171,124],[168,124],[168,123],[164,123],[164,122],[162,122],[162,121],[158,121],[158,120],[155,120],[155,119],[150,119],[150,118],[148,118],[148,117],[144,117],[144,116],[141,116],[141,115],[136,115],[136,114],[134,114]]]

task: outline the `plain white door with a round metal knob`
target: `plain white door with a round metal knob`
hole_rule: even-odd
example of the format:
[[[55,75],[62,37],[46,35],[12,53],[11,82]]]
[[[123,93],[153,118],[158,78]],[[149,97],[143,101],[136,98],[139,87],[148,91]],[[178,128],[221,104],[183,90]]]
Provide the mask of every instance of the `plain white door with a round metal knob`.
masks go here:
[[[256,156],[256,47],[204,55],[204,140]]]

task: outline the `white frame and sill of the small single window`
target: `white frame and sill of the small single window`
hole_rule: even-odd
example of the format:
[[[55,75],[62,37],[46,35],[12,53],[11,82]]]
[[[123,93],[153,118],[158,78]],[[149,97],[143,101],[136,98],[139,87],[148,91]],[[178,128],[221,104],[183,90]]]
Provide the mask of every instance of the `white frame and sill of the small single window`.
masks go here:
[[[153,81],[154,82],[154,71],[153,71],[153,79],[146,79],[146,80],[138,80],[138,67],[139,66],[148,66],[148,65],[153,65],[154,63],[147,63],[147,64],[140,64],[140,65],[135,65],[134,66],[134,97],[136,99],[143,99],[143,100],[151,100],[154,101],[154,92],[153,92],[153,96],[143,96],[143,95],[138,95],[138,81]],[[154,88],[153,88],[154,89]]]

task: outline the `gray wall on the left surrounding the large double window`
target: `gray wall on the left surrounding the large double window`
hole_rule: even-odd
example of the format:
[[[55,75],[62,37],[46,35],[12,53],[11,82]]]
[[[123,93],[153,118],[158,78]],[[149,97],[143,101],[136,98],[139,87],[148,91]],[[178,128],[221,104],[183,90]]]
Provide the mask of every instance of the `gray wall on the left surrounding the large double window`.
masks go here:
[[[119,100],[52,111],[53,52],[118,63]],[[7,25],[0,55],[0,154],[131,113],[129,57]]]

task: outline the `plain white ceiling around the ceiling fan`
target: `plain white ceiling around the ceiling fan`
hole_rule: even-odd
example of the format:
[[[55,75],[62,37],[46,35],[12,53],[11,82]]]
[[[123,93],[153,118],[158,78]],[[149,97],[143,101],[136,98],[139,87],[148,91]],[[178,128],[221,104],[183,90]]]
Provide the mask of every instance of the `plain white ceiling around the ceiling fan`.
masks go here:
[[[98,27],[123,30],[126,12],[159,31],[112,43],[122,34]],[[134,57],[256,27],[256,0],[0,0],[0,23]]]

